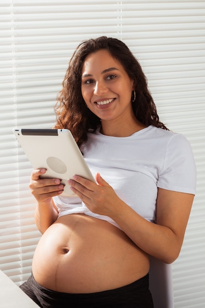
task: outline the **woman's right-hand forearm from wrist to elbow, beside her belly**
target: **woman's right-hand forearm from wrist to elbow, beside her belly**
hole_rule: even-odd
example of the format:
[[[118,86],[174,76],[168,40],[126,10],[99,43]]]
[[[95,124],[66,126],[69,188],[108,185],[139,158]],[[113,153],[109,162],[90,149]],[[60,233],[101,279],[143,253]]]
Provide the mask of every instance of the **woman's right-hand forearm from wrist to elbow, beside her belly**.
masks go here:
[[[165,263],[172,263],[177,258],[182,243],[170,228],[147,221],[124,202],[112,218],[146,253]]]

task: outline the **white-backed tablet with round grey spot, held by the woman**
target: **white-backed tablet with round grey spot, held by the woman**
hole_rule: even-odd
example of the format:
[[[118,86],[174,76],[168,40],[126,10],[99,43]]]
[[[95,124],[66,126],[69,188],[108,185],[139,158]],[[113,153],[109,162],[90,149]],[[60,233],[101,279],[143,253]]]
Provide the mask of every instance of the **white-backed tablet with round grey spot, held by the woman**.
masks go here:
[[[45,168],[41,178],[60,179],[60,196],[77,196],[67,184],[74,175],[96,183],[70,130],[14,128],[13,133],[34,169]]]

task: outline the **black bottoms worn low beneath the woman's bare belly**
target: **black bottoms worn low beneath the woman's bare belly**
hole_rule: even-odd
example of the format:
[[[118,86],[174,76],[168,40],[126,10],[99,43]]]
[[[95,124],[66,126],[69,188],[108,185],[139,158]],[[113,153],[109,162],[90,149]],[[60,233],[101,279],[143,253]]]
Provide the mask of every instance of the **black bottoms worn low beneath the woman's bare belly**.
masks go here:
[[[123,287],[96,293],[63,293],[41,286],[33,275],[20,288],[41,308],[153,308],[148,274]]]

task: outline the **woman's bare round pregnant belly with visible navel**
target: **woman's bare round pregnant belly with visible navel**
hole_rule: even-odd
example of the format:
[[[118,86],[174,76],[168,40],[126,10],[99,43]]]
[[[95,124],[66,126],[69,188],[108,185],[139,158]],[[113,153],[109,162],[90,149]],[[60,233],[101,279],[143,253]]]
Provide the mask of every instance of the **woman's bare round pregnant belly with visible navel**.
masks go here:
[[[83,214],[60,217],[41,237],[32,272],[42,286],[92,293],[131,283],[148,272],[148,256],[121,230]]]

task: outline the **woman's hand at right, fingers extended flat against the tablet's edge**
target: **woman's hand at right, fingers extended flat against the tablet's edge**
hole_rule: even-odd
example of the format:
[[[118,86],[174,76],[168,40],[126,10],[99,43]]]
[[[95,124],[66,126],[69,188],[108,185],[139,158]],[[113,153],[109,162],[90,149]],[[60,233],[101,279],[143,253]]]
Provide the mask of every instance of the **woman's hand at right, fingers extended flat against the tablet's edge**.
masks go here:
[[[95,179],[97,184],[80,176],[74,176],[68,184],[91,212],[111,217],[112,213],[117,211],[117,204],[121,200],[99,173],[96,174]]]

